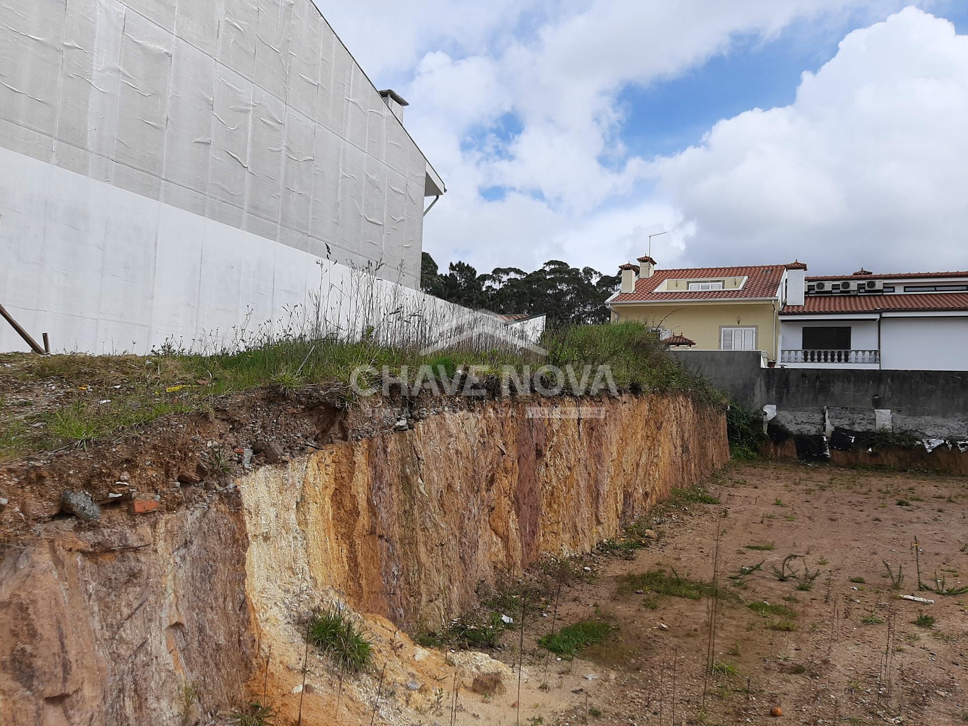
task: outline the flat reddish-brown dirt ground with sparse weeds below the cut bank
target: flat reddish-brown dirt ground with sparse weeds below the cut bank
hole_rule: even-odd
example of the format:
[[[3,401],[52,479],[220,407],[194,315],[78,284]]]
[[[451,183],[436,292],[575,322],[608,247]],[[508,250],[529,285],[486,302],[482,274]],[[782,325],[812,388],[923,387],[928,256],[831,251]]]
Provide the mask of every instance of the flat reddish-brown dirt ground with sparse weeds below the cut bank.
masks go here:
[[[652,546],[629,560],[591,560],[589,582],[562,590],[559,627],[603,619],[617,628],[613,636],[560,660],[536,645],[550,629],[548,613],[526,621],[520,717],[512,682],[489,698],[462,691],[455,722],[968,721],[968,591],[919,590],[914,548],[917,537],[925,588],[968,585],[968,479],[763,462],[734,465],[708,488],[719,503],[656,515]],[[711,582],[717,531],[722,594],[715,674],[707,678],[712,598],[623,591],[621,584],[656,568]],[[781,582],[772,567],[782,570],[789,555],[800,556],[788,562],[800,579]],[[761,560],[752,573],[730,577]],[[897,588],[885,561],[894,577],[903,567]],[[812,586],[800,585],[804,565],[816,573]],[[749,607],[755,603],[792,612],[761,615]],[[919,615],[934,621],[915,624]],[[497,657],[515,666],[519,634],[511,636]],[[782,715],[771,716],[774,708]],[[421,722],[449,719],[445,706]]]

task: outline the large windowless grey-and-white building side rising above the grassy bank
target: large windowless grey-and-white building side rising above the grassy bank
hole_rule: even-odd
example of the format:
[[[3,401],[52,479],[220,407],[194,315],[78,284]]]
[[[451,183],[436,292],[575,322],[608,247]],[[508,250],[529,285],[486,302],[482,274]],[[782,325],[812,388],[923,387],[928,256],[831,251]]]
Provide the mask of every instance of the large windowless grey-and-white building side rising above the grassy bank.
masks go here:
[[[0,304],[54,350],[419,297],[443,182],[312,0],[0,0],[0,59]]]

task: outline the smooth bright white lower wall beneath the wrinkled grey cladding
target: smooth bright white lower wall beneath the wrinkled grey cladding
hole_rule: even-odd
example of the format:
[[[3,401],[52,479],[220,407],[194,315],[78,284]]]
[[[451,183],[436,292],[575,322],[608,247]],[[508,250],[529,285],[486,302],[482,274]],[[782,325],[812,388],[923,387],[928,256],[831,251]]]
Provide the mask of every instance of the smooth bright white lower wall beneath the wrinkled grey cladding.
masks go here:
[[[433,342],[455,320],[506,338],[491,315],[254,232],[0,148],[0,302],[55,351],[199,350],[326,331]],[[0,320],[0,351],[26,350]]]

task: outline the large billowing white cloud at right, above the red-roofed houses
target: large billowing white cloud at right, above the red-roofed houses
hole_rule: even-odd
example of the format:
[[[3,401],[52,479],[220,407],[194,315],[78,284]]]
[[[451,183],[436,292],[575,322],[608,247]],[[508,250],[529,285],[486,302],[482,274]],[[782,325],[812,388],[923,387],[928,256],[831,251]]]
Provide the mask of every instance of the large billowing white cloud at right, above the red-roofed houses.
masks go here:
[[[658,161],[696,263],[820,272],[968,267],[968,36],[908,8],[857,30],[791,106],[754,109]]]

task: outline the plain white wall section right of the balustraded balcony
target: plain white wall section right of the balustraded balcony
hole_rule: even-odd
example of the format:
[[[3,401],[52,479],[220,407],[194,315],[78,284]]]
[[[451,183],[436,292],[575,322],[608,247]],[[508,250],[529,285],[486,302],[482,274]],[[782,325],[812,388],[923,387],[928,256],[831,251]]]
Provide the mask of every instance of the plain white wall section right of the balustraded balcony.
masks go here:
[[[968,316],[883,318],[881,368],[968,371]]]

